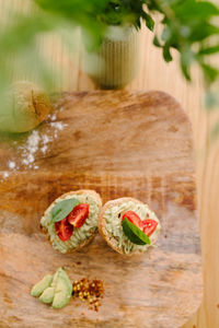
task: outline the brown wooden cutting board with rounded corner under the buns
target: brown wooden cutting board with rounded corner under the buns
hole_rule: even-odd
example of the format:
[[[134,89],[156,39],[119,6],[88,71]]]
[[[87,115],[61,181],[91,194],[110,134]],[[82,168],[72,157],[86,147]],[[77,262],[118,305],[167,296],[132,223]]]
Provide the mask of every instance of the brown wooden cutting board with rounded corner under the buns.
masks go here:
[[[46,152],[43,145],[34,152],[33,168],[22,164],[28,134],[0,143],[0,327],[181,327],[203,295],[187,116],[162,92],[66,93],[55,105],[39,136],[53,134],[53,122],[66,126],[50,136]],[[19,172],[5,177],[9,161]],[[104,202],[130,196],[149,203],[162,224],[159,247],[126,258],[96,235],[80,251],[56,253],[39,219],[55,198],[80,188],[95,189]],[[30,295],[59,266],[72,280],[103,280],[97,313],[74,298],[55,311]]]

